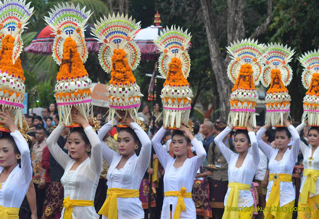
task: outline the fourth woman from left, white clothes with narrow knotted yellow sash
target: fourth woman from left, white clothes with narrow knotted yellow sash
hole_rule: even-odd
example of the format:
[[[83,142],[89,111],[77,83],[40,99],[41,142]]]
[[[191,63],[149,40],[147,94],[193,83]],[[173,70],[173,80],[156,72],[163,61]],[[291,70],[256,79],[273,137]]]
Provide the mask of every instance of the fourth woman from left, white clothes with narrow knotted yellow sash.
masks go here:
[[[196,219],[196,209],[191,191],[196,173],[206,157],[203,145],[194,138],[190,130],[181,126],[172,134],[172,146],[176,158],[172,158],[160,141],[166,132],[162,127],[152,139],[155,153],[165,170],[164,201],[161,219]],[[187,149],[194,147],[196,156],[187,158]],[[170,213],[170,206],[172,212]]]

